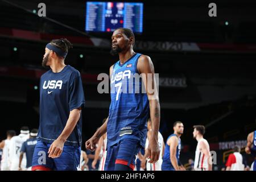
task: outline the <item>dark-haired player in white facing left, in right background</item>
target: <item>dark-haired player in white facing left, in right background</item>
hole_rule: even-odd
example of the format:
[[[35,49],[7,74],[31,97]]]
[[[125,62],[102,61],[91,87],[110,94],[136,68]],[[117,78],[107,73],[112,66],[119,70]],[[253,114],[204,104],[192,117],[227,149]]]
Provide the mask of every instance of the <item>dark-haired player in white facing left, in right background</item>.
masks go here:
[[[209,143],[204,139],[205,127],[203,125],[193,126],[193,138],[197,140],[195,171],[212,171],[212,155]]]

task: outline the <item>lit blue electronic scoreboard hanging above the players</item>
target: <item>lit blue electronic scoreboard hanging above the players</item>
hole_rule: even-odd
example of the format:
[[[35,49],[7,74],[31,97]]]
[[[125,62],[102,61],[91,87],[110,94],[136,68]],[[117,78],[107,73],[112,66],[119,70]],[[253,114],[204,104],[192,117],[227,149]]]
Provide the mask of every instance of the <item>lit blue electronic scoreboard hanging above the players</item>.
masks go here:
[[[116,28],[143,30],[143,3],[86,2],[85,31],[113,32]]]

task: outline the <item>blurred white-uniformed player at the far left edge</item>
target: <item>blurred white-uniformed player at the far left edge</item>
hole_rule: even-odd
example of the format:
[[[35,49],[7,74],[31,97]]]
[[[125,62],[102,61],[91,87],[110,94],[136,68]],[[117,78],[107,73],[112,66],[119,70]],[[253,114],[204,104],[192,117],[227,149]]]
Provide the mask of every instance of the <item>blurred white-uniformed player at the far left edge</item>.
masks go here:
[[[1,159],[1,171],[10,171],[8,146],[10,144],[11,138],[16,135],[14,130],[8,130],[6,134],[7,138],[5,140],[2,140],[2,142],[0,143],[0,148],[3,150]]]

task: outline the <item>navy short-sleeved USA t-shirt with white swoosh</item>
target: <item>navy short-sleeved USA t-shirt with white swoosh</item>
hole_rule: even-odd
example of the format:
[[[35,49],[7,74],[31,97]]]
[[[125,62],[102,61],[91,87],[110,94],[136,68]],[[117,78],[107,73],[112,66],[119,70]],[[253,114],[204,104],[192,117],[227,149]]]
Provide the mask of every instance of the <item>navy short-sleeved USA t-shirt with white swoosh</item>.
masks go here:
[[[40,79],[40,125],[38,139],[52,143],[62,133],[70,111],[84,106],[84,90],[79,71],[67,65],[59,73],[50,69]],[[81,146],[82,115],[64,143]]]

